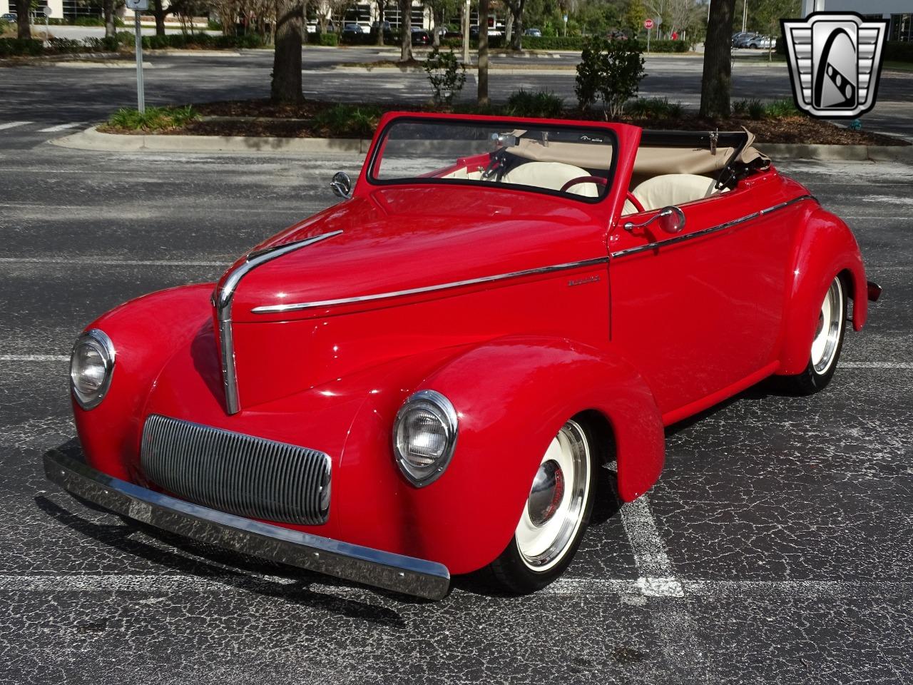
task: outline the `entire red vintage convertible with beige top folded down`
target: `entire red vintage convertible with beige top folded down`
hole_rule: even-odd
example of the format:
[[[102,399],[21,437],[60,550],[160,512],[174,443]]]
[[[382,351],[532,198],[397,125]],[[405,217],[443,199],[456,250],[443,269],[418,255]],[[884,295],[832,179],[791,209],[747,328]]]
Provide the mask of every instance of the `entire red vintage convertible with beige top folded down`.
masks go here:
[[[390,114],[346,199],[215,284],[92,322],[81,453],[47,476],[227,548],[430,598],[550,583],[597,469],[634,500],[664,427],[831,380],[866,281],[749,132]],[[605,495],[603,495],[605,496]]]

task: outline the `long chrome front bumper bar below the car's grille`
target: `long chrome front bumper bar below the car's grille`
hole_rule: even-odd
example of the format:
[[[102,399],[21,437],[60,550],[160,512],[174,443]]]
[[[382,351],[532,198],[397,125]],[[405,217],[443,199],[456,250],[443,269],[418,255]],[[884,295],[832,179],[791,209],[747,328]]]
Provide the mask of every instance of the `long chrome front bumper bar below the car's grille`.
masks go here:
[[[207,509],[112,478],[58,449],[46,452],[44,461],[47,478],[64,490],[203,543],[427,599],[441,599],[450,585],[443,564]]]

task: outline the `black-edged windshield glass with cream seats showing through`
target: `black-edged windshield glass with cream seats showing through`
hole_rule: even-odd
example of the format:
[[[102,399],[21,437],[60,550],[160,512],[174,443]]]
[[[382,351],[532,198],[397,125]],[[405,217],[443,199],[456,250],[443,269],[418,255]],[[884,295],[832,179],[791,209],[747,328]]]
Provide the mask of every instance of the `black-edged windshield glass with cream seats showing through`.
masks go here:
[[[369,171],[375,184],[519,187],[598,202],[614,171],[614,132],[513,121],[396,119]]]

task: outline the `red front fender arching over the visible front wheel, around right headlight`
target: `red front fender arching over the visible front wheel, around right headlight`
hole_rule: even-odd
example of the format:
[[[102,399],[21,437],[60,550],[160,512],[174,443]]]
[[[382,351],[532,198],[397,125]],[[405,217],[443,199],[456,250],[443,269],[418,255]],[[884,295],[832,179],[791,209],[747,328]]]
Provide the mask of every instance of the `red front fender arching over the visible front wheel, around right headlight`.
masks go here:
[[[391,428],[404,398],[423,389],[450,399],[459,432],[445,473],[416,489],[389,469]],[[662,469],[664,434],[653,395],[619,357],[564,340],[502,338],[456,354],[417,385],[379,393],[362,407],[343,455],[343,469],[358,464],[358,478],[371,490],[360,503],[349,491],[342,507],[346,538],[361,543],[362,535],[371,539],[392,524],[395,532],[388,534],[398,539],[387,541],[390,547],[446,564],[453,573],[490,563],[513,535],[551,439],[584,410],[602,413],[613,427],[619,493],[635,499]],[[359,458],[371,448],[383,449],[387,469],[370,469],[369,460]],[[393,475],[384,478],[384,472]]]

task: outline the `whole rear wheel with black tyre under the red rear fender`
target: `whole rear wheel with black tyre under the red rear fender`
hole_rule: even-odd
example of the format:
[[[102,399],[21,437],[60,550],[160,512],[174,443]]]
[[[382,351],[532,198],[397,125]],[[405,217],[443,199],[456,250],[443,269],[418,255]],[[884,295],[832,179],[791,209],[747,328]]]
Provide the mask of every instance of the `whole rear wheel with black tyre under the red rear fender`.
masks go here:
[[[846,332],[846,290],[837,276],[824,294],[812,339],[808,365],[802,374],[781,376],[787,390],[812,395],[827,385],[837,368]]]

